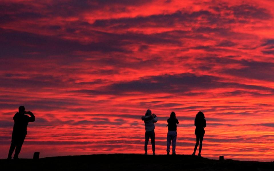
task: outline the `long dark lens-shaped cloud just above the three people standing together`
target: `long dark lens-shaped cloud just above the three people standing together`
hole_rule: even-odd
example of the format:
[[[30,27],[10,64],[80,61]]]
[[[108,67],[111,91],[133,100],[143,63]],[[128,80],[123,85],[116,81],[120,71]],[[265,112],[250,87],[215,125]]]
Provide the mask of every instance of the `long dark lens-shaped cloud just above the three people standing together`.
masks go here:
[[[230,73],[231,74],[231,73]],[[126,94],[130,92],[166,92],[184,94],[194,89],[214,89],[218,87],[263,90],[268,93],[274,91],[272,88],[263,86],[254,86],[249,84],[238,84],[230,82],[221,82],[220,78],[213,76],[196,76],[194,74],[176,74],[143,77],[139,80],[130,82],[114,83],[110,86],[101,87],[100,90],[81,89],[73,92],[85,93],[90,95],[96,94]],[[184,107],[183,107],[184,108]],[[182,109],[183,109],[182,108]],[[174,108],[179,109],[179,108]]]

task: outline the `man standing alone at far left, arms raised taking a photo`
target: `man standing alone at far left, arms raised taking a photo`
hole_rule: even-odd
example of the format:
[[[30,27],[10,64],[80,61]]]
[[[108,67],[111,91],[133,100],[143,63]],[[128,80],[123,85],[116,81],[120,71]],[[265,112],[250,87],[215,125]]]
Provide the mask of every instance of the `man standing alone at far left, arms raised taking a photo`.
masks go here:
[[[27,116],[29,114],[31,117]],[[11,147],[9,148],[8,159],[11,159],[11,155],[15,149],[15,153],[13,159],[18,159],[18,155],[20,153],[21,147],[24,143],[25,137],[27,135],[27,126],[29,122],[35,121],[35,116],[31,111],[26,112],[24,106],[19,107],[19,112],[15,113],[14,117],[14,125],[11,136]]]

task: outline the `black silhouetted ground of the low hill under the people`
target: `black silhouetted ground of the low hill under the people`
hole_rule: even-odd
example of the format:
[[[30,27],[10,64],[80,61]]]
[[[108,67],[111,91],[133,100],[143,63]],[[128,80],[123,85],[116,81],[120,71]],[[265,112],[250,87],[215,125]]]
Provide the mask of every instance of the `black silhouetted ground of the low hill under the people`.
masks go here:
[[[251,170],[270,171],[274,162],[212,160],[192,155],[97,154],[0,160],[1,170]]]

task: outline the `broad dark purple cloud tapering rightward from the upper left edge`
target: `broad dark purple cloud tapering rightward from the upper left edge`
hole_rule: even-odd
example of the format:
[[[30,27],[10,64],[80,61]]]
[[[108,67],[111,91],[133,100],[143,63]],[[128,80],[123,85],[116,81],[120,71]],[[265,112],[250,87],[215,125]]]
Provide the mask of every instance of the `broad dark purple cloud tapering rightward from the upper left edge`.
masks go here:
[[[6,29],[0,29],[0,31],[0,42],[2,47],[5,48],[5,52],[1,53],[2,57],[10,55],[18,58],[30,58],[30,52],[39,52],[39,56],[43,57],[49,55],[71,54],[73,51],[127,51],[121,48],[121,45],[124,45],[125,43],[117,41],[117,39],[106,42],[81,44],[76,41],[64,40],[53,36],[42,36]],[[36,57],[37,55],[34,56]]]

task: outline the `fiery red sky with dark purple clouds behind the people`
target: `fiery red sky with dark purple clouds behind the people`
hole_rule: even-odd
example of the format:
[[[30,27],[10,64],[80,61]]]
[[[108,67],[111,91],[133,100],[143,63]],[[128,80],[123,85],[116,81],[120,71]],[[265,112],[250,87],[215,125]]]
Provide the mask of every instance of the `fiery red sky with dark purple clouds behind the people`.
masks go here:
[[[202,156],[272,161],[273,9],[272,0],[0,1],[0,158],[24,105],[36,121],[21,158],[143,154],[151,109],[156,154],[166,153],[171,111],[176,152],[192,154],[203,111]]]

